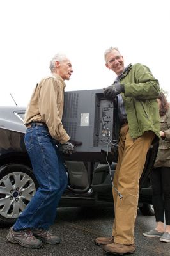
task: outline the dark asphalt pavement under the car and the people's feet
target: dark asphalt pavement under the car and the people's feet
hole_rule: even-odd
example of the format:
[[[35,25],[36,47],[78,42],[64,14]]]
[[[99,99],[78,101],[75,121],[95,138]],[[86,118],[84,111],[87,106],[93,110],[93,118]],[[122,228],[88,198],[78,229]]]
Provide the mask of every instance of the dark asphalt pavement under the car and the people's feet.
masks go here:
[[[123,216],[122,216],[123,218]],[[28,249],[6,241],[8,228],[0,228],[1,256],[107,256],[102,247],[93,243],[95,237],[111,236],[114,212],[109,209],[60,208],[51,227],[61,237],[58,245],[43,244],[40,249]],[[143,232],[155,227],[155,216],[137,214],[135,226],[135,256],[170,256],[170,243],[158,237],[148,238]]]

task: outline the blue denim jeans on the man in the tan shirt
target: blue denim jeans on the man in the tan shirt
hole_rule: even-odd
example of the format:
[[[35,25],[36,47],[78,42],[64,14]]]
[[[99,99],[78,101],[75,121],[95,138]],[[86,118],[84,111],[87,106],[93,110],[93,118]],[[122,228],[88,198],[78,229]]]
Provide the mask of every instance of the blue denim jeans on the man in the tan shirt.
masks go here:
[[[25,145],[39,188],[19,215],[13,229],[48,230],[54,223],[59,200],[68,184],[65,166],[47,127],[32,124],[31,128],[27,128]]]

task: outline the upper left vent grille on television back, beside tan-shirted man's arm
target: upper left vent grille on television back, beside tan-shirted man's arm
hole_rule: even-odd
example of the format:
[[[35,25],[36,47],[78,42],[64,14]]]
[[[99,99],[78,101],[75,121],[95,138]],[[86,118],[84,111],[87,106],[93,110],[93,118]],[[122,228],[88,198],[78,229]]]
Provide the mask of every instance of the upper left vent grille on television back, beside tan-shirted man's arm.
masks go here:
[[[65,93],[63,118],[77,118],[78,93]]]

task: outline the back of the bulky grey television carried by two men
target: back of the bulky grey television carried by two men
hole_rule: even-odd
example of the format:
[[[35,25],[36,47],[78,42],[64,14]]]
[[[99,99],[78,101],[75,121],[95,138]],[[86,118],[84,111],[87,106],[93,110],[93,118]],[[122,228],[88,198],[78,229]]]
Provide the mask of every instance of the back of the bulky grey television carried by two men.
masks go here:
[[[113,120],[114,104],[104,98],[103,90],[65,92],[62,122],[70,139],[82,142],[76,152],[107,151],[107,141],[113,140]]]

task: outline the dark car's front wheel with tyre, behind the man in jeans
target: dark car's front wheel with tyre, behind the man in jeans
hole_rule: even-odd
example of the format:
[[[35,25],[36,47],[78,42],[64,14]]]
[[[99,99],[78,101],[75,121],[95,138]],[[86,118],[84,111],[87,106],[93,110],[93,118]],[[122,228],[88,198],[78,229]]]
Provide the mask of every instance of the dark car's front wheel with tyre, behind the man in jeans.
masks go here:
[[[24,164],[0,167],[0,224],[11,226],[35,195],[38,182]]]

